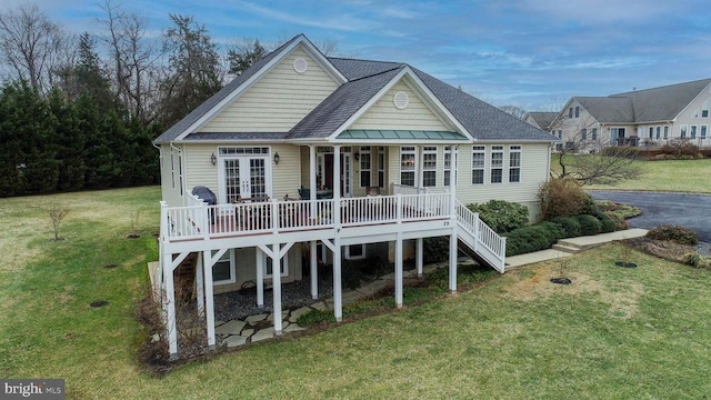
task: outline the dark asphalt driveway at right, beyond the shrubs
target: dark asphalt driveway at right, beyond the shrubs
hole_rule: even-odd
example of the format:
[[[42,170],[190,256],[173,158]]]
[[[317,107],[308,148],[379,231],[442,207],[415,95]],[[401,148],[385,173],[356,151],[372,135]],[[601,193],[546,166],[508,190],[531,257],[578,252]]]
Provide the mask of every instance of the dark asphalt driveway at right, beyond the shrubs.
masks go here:
[[[597,200],[612,200],[642,210],[640,217],[628,220],[632,228],[678,224],[695,230],[699,239],[711,242],[711,196],[597,190],[589,193]]]

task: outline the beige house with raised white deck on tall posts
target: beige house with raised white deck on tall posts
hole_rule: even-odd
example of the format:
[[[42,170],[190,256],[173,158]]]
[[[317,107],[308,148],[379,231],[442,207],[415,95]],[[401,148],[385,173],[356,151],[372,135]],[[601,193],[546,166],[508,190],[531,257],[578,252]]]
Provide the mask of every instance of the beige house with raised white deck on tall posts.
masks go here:
[[[154,141],[162,178],[160,263],[170,353],[178,351],[177,271],[194,277],[208,341],[213,293],[273,288],[332,263],[333,312],[342,316],[342,259],[384,249],[402,306],[404,252],[422,271],[422,240],[450,238],[503,272],[505,238],[464,204],[527,204],[548,180],[550,134],[409,64],[331,58],[304,36],[256,62]],[[193,196],[193,189],[211,196]],[[209,189],[208,190],[206,190]],[[206,202],[207,200],[207,202]],[[277,267],[279,266],[279,267]],[[282,321],[274,319],[281,333]]]

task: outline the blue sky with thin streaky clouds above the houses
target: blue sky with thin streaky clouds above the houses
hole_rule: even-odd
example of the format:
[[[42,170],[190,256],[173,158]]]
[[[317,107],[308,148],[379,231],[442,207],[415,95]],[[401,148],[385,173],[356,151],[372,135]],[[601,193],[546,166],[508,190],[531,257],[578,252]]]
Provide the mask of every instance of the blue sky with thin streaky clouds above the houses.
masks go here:
[[[0,0],[0,12],[27,0]],[[99,32],[103,0],[39,0],[70,31]],[[192,16],[227,46],[272,48],[299,33],[337,56],[407,62],[494,106],[554,111],[608,96],[711,78],[708,0],[123,0],[154,34]]]

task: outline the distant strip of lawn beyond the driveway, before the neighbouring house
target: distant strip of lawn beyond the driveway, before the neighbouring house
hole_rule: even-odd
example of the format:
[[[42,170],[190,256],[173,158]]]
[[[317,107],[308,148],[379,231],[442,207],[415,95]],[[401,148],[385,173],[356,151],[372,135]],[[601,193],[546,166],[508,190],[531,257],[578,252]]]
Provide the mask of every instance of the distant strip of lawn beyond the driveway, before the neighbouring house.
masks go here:
[[[637,179],[613,184],[592,184],[585,189],[711,193],[711,159],[637,161],[637,164],[643,171]],[[553,171],[560,170],[557,154],[552,156],[551,168]]]

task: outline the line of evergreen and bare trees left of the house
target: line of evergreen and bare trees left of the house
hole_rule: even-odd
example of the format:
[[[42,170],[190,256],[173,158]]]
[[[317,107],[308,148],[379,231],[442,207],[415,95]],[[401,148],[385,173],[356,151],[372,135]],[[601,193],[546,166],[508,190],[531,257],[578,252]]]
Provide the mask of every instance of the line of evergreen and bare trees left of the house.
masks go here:
[[[101,31],[78,36],[36,4],[0,9],[0,197],[158,183],[151,141],[267,53],[221,53],[192,17],[156,37],[101,8]]]

